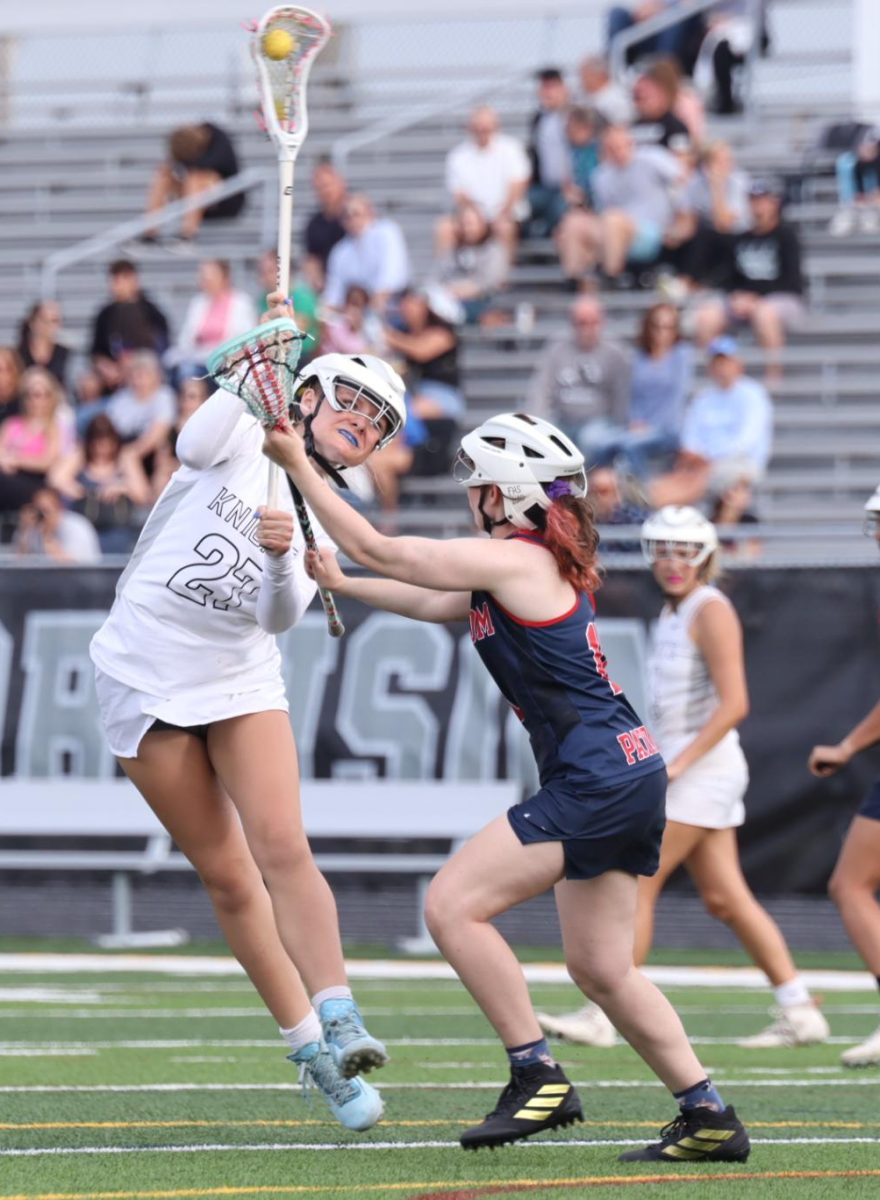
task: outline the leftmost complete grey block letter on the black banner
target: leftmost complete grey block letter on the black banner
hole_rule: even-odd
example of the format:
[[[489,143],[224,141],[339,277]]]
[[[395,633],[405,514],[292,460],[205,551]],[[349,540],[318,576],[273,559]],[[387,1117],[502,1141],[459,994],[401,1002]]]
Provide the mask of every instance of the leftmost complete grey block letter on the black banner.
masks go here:
[[[106,616],[95,611],[52,611],[25,617],[16,774],[113,774],[89,659],[89,642]]]

